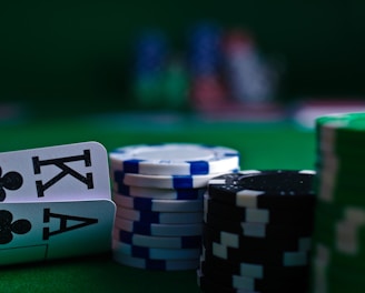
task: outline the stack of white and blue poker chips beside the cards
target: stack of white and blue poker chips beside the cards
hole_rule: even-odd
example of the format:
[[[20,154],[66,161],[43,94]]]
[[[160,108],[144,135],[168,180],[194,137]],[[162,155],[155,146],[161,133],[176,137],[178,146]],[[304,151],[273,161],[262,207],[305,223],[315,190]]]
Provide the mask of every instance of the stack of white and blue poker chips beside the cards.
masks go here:
[[[109,153],[114,259],[148,270],[199,264],[203,195],[209,179],[239,169],[239,153],[190,143],[130,145]]]

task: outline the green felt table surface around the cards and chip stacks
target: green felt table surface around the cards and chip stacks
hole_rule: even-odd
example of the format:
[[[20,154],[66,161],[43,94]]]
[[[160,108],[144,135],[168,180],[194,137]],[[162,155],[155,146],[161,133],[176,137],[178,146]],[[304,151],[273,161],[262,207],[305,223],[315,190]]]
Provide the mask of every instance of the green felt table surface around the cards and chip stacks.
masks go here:
[[[237,149],[241,169],[314,169],[315,135],[288,122],[213,122],[175,115],[95,115],[0,124],[0,151],[98,141],[108,151],[138,143],[194,142]],[[0,269],[0,292],[199,292],[195,271],[155,272],[109,255]]]

